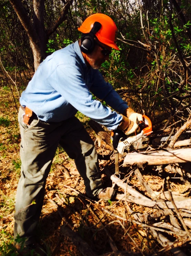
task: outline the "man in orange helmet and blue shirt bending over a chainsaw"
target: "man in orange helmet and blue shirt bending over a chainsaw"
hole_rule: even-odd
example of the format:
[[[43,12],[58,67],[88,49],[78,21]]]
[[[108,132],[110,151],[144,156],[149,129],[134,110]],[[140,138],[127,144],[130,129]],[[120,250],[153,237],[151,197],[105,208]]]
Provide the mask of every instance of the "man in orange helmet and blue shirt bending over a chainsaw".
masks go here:
[[[115,193],[113,188],[103,188],[94,143],[74,116],[77,111],[110,130],[118,128],[125,134],[134,132],[138,127],[137,118],[142,119],[142,115],[129,108],[99,72],[112,48],[119,50],[114,21],[107,15],[94,14],[79,30],[81,39],[48,56],[20,98],[22,165],[14,236],[24,238],[29,248],[36,246],[34,230],[58,144],[75,160],[89,197],[109,200]],[[93,100],[90,91],[122,115]]]

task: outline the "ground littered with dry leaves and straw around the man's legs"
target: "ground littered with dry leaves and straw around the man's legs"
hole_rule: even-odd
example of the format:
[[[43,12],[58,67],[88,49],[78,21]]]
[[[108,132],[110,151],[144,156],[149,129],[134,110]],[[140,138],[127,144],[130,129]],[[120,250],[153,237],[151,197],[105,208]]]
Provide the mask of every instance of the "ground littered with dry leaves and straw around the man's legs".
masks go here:
[[[16,95],[16,92],[14,92],[14,95]],[[16,105],[19,107],[18,97],[16,97]],[[87,127],[95,141],[95,134],[87,123],[88,118],[80,113],[78,118]],[[19,147],[20,134],[17,109],[10,88],[4,86],[0,88],[1,255],[18,255],[13,248],[13,214],[21,166]],[[98,147],[98,144],[96,144],[96,147],[101,156],[110,153],[109,150]],[[122,177],[125,177],[132,169],[122,167],[122,161],[123,159],[120,160],[119,164],[120,171]],[[111,186],[111,180],[104,174],[105,167],[114,173],[114,158],[100,160],[103,182],[105,186]],[[143,177],[154,191],[162,191],[164,179],[155,170],[151,168],[144,170]],[[175,177],[176,175],[174,175]],[[134,174],[129,178],[128,184],[147,195]],[[190,190],[190,185],[181,179],[174,179],[171,182],[171,187],[173,191],[178,189],[180,193],[189,193]],[[122,193],[121,189],[119,189],[119,193],[120,191]],[[118,250],[141,252],[142,255],[156,253],[162,247],[150,235],[149,229],[128,221],[130,214],[125,207],[125,203],[127,202],[104,202],[88,199],[83,179],[79,176],[74,161],[68,158],[62,148],[58,148],[47,179],[37,237],[44,241],[49,249],[49,255],[52,256],[82,255],[78,248],[66,236],[62,235],[62,226],[70,227],[74,232],[78,232],[98,255],[112,251],[110,238],[113,239]],[[134,212],[149,213],[153,211],[152,208],[134,203],[127,204]],[[104,210],[109,211],[110,214],[105,213]],[[172,254],[166,252],[161,255]]]

